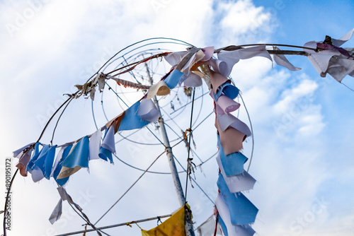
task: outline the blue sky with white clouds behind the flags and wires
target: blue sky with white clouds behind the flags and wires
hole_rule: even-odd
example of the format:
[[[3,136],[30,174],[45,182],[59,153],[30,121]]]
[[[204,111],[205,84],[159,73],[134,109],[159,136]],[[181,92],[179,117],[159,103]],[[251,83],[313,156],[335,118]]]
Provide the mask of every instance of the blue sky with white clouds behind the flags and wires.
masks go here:
[[[1,1],[0,11],[1,179],[5,178],[5,159],[11,157],[12,151],[38,139],[47,119],[64,101],[63,94],[72,93],[75,84],[84,83],[127,45],[149,37],[173,37],[197,47],[259,42],[304,45],[311,40],[324,40],[326,35],[339,38],[354,27],[354,4],[349,0],[32,0]],[[353,47],[353,42],[343,46]],[[171,44],[163,47],[178,49]],[[287,71],[267,59],[256,58],[240,61],[232,72],[254,131],[250,174],[258,182],[246,193],[259,208],[253,228],[259,235],[353,235],[354,92],[330,76],[321,78],[306,57],[288,59],[302,70]],[[354,88],[352,77],[344,78],[343,83]],[[205,89],[197,90],[197,94],[205,93]],[[96,95],[93,107],[99,126],[105,124],[105,115],[111,119],[126,109],[112,95],[105,90],[105,114],[101,95]],[[140,97],[141,94],[132,93],[125,100],[131,105]],[[188,101],[181,93],[177,97],[179,101],[173,100],[176,108]],[[170,109],[169,102],[166,104],[166,110]],[[197,111],[202,107],[198,124],[212,111],[211,98],[198,100],[196,107]],[[170,113],[166,112],[166,116]],[[187,106],[176,117],[182,129],[188,128],[189,115]],[[244,107],[239,116],[247,121]],[[177,129],[176,124],[170,124]],[[210,117],[193,134],[195,152],[201,160],[217,151],[213,124]],[[148,127],[155,130],[154,124]],[[49,143],[53,128],[54,125],[48,127],[42,143]],[[54,143],[76,140],[95,129],[91,101],[80,98],[63,114]],[[181,130],[176,132],[181,134]],[[172,131],[169,135],[171,139],[177,137]],[[148,129],[131,137],[143,143],[158,142]],[[146,169],[164,148],[127,141],[118,143],[117,150],[122,160]],[[247,140],[244,154],[251,155],[251,140]],[[176,148],[175,155],[185,166],[183,145]],[[196,155],[194,158],[198,165],[200,160]],[[168,172],[166,157],[159,158],[153,169]],[[96,161],[91,163],[90,173],[81,170],[72,177],[67,191],[96,222],[141,174],[119,160],[115,160],[115,165]],[[214,200],[215,159],[198,168],[195,177]],[[184,188],[185,174],[181,174],[181,182]],[[5,189],[4,184],[1,181],[1,189]],[[61,221],[50,225],[48,218],[59,200],[56,187],[52,179],[33,183],[30,176],[16,177],[11,203],[13,222],[8,235],[42,236],[82,230],[83,220],[66,202]],[[4,197],[1,199],[4,204]],[[212,203],[196,186],[188,186],[188,203],[197,226],[212,214]],[[171,176],[147,174],[98,226],[161,216],[177,208]],[[156,221],[139,226],[153,228]],[[140,234],[137,225],[105,232]]]

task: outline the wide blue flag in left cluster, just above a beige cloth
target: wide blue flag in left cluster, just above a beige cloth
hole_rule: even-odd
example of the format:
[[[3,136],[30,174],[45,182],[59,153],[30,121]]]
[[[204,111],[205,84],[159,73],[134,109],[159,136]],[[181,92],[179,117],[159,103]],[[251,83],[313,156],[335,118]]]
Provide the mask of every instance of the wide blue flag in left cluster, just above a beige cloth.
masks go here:
[[[89,167],[89,137],[84,136],[76,143],[64,160],[63,166],[74,168],[76,166]]]

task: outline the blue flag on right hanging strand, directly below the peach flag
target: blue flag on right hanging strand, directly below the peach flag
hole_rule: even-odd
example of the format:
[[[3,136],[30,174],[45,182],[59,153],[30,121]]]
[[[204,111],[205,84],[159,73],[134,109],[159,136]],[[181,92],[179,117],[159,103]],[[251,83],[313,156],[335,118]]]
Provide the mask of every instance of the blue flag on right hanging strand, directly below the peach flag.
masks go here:
[[[225,155],[224,149],[220,143],[219,135],[217,135],[217,146],[219,147],[219,155],[220,160],[222,161],[222,167],[224,167],[224,171],[227,176],[239,175],[244,172],[244,163],[246,163],[249,158],[246,158],[245,155],[239,152]]]

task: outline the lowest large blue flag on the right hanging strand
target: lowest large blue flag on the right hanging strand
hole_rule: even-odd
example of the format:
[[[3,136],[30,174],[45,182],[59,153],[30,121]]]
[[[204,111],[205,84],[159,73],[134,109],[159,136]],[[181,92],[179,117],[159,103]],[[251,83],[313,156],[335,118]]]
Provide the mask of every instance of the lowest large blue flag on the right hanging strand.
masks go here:
[[[256,208],[256,206],[254,206],[244,194],[241,192],[232,194],[222,175],[219,175],[219,179],[217,179],[217,187],[219,187],[220,193],[229,207],[231,223],[233,225],[254,223],[258,208]]]

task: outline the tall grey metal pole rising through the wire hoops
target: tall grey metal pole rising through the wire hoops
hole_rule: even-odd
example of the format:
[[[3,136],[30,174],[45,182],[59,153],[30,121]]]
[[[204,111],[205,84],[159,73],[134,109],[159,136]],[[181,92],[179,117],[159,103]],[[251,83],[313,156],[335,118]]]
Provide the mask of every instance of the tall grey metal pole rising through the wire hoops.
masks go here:
[[[152,77],[150,76],[150,71],[149,71],[149,68],[146,63],[145,63],[145,66],[147,68],[147,76],[149,77],[149,82],[152,85],[153,80],[152,80]],[[162,138],[164,139],[164,146],[166,147],[167,160],[169,161],[171,175],[173,178],[173,184],[175,185],[175,190],[176,190],[178,202],[179,202],[180,206],[183,206],[185,204],[185,197],[183,194],[181,181],[178,176],[176,163],[175,163],[175,160],[173,159],[172,148],[171,148],[171,145],[169,142],[169,136],[167,136],[164,118],[162,118],[162,116],[161,116],[159,101],[156,99],[156,95],[154,96],[154,103],[156,105],[157,110],[159,111],[159,125],[160,125],[160,129],[161,129]],[[193,230],[192,219],[190,217],[191,213],[190,213],[190,211],[186,211],[185,214],[186,214],[186,216],[185,216],[185,234],[187,236],[195,236],[194,230]]]

